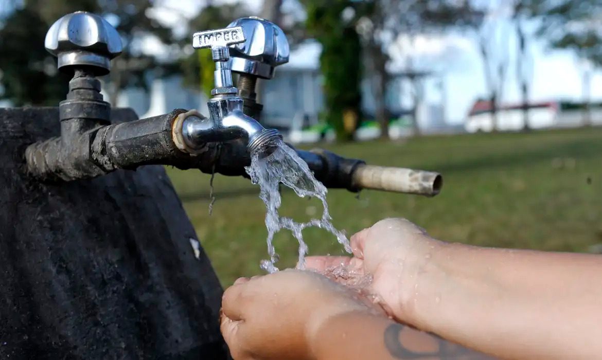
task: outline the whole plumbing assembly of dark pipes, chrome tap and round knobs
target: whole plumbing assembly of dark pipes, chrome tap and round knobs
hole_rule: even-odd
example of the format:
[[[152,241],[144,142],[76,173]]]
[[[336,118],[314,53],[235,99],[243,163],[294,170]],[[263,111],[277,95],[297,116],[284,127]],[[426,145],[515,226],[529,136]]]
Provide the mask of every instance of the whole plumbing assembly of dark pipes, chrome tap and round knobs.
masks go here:
[[[256,79],[272,78],[275,67],[288,61],[284,33],[266,20],[244,17],[228,28],[194,34],[194,48],[211,48],[216,63],[208,118],[196,110],[174,109],[111,123],[111,106],[103,101],[96,76],[109,72],[122,45],[116,29],[100,16],[78,11],[61,17],[49,29],[45,45],[58,58],[58,68],[73,73],[73,79],[58,109],[60,136],[25,149],[26,169],[40,180],[95,178],[152,164],[244,175],[249,155],[269,154],[282,139],[280,132],[256,121],[261,112],[254,97]],[[240,89],[233,85],[233,71],[240,75]],[[438,173],[368,166],[320,149],[297,154],[329,188],[433,196],[442,184]]]

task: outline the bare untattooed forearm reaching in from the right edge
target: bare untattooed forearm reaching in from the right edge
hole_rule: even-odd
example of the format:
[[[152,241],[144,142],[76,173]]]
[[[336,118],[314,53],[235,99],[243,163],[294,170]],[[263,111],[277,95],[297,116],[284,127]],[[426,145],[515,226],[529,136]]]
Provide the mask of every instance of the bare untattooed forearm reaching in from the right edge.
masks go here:
[[[442,245],[416,276],[411,323],[503,358],[602,353],[598,256]]]

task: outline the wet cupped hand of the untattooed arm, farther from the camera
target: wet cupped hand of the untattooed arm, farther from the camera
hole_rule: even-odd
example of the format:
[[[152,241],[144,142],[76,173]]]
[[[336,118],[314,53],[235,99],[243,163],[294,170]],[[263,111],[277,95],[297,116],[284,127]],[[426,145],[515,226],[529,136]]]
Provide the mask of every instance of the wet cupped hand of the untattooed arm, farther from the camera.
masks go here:
[[[380,220],[353,235],[350,242],[353,257],[308,256],[305,267],[352,287],[358,279],[371,276],[363,291],[373,294],[373,301],[389,316],[411,323],[421,274],[443,243],[406,219]]]

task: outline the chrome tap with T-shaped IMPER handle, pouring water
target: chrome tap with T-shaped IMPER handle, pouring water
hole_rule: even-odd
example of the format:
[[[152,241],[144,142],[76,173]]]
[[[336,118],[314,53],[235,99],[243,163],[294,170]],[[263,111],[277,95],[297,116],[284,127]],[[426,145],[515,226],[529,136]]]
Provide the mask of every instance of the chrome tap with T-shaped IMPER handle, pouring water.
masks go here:
[[[178,129],[181,126],[181,132],[175,132],[175,143],[182,151],[194,154],[206,143],[243,139],[247,150],[253,153],[276,140],[282,140],[278,130],[265,129],[243,113],[243,99],[238,96],[238,89],[232,83],[228,46],[245,40],[241,26],[200,31],[193,35],[194,48],[211,48],[216,63],[215,87],[211,90],[213,98],[207,102],[209,118],[190,113],[184,114],[180,121],[176,120],[174,127]]]

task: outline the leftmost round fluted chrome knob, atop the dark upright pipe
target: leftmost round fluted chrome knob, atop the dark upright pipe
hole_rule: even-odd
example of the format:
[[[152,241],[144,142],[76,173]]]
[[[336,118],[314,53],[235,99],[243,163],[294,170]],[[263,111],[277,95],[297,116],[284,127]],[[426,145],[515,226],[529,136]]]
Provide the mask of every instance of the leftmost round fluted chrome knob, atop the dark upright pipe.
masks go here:
[[[58,58],[61,70],[87,66],[96,75],[110,70],[110,61],[122,52],[117,30],[96,14],[76,11],[58,19],[46,33],[44,46]]]

